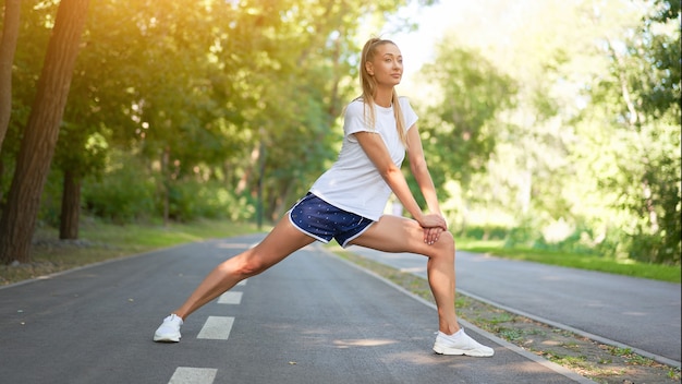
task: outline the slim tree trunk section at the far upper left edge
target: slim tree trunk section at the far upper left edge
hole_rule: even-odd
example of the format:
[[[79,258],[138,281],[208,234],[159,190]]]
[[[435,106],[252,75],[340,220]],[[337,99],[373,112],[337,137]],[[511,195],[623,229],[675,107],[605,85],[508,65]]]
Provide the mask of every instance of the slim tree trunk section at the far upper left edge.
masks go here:
[[[10,125],[12,112],[12,63],[19,38],[21,0],[4,1],[4,26],[0,40],[0,148]]]

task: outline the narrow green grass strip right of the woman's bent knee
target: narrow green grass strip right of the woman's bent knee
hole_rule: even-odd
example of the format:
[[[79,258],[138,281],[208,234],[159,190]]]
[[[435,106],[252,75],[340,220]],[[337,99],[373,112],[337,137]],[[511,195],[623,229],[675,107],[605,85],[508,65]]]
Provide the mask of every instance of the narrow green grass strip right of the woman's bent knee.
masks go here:
[[[661,281],[680,283],[680,266],[657,265],[633,260],[613,260],[598,255],[575,254],[535,249],[508,249],[503,241],[480,241],[458,239],[458,249],[472,253],[483,253],[510,260],[522,260],[571,268],[605,272],[616,275],[649,278]]]

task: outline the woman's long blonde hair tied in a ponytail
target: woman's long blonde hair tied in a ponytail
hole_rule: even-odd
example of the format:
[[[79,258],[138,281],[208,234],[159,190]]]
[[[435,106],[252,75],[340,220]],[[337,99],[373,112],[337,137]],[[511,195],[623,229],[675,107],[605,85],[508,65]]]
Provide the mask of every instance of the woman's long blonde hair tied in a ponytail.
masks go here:
[[[360,60],[360,84],[363,88],[363,94],[360,98],[363,99],[363,104],[365,107],[365,121],[368,122],[369,127],[372,128],[375,128],[376,122],[374,94],[377,88],[377,81],[367,72],[366,63],[372,62],[377,52],[377,48],[386,44],[392,44],[397,46],[395,43],[391,40],[386,40],[377,37],[370,38],[369,40],[367,40],[367,43],[365,43],[365,46],[363,47],[363,56]],[[395,129],[398,130],[398,136],[406,148],[407,133],[405,132],[405,119],[403,118],[403,112],[400,108],[400,103],[395,88],[393,88],[391,104],[393,105],[393,116],[395,117]]]

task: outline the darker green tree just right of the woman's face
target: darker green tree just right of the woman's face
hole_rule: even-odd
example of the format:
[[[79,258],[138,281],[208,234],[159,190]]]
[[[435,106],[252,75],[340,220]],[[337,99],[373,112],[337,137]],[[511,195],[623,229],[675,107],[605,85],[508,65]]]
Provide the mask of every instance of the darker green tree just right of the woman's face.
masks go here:
[[[499,113],[513,106],[516,85],[474,49],[443,41],[436,63],[423,69],[437,84],[421,123],[425,151],[434,175],[467,188],[474,173],[486,170],[500,132]]]

